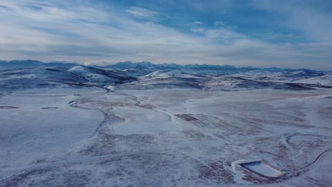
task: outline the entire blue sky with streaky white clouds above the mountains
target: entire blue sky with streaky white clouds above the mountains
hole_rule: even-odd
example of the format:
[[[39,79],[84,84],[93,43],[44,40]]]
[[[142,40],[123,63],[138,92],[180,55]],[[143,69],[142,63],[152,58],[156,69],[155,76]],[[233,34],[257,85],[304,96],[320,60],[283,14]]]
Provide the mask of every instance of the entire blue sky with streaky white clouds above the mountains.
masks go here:
[[[332,70],[332,1],[0,0],[0,59]]]

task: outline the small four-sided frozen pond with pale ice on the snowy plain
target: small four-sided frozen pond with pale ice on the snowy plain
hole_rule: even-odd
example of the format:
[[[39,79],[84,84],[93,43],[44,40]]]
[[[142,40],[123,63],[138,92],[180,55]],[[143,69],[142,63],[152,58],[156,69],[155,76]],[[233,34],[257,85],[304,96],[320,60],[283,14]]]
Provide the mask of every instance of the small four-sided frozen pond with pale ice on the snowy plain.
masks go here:
[[[263,162],[248,162],[245,164],[241,164],[246,169],[249,169],[250,171],[253,171],[257,174],[260,174],[262,176],[268,176],[268,177],[280,177],[283,175],[282,171],[279,171],[275,169],[274,167],[267,165]]]

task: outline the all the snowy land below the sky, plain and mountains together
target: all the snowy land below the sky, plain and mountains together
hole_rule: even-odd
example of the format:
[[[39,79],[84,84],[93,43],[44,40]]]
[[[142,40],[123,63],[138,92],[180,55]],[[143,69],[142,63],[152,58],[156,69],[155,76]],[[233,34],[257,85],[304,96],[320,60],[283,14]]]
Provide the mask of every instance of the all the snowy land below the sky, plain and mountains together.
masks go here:
[[[1,187],[331,186],[331,72],[9,67]]]

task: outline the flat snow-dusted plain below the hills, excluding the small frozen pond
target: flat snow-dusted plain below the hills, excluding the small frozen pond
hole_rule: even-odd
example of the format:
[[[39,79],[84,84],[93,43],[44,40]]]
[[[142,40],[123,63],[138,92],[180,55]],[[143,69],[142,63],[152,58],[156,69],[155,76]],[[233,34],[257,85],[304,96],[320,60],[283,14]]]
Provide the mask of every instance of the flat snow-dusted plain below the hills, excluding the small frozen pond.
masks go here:
[[[28,89],[0,106],[0,186],[332,183],[331,89]]]

